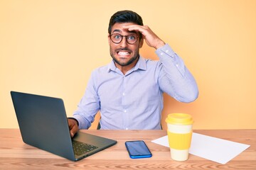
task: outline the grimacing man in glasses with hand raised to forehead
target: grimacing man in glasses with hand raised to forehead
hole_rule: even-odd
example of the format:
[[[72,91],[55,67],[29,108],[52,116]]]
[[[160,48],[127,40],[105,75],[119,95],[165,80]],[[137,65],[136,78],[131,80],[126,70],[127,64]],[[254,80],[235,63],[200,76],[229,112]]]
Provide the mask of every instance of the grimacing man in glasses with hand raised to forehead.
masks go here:
[[[196,100],[193,76],[171,47],[143,25],[141,16],[114,13],[108,33],[113,60],[92,72],[78,110],[68,119],[71,136],[90,128],[98,111],[101,129],[161,129],[164,92],[181,102]],[[156,49],[159,61],[139,55],[144,40]]]

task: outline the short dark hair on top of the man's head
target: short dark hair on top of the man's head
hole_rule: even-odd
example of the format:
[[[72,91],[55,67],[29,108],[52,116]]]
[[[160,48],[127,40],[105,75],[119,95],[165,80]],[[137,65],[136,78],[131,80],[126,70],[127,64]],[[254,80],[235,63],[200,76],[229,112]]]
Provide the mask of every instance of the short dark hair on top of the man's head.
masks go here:
[[[136,23],[139,26],[143,26],[142,17],[139,16],[138,13],[135,13],[134,11],[117,11],[114,13],[114,15],[110,18],[108,33],[111,33],[112,26],[114,26],[115,23]],[[140,38],[142,38],[141,33],[139,33]]]

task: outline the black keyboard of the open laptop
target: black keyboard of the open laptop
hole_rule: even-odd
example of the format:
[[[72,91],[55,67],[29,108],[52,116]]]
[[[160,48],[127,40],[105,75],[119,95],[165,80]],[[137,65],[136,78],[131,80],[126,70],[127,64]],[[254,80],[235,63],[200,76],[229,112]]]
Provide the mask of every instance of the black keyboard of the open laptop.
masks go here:
[[[93,145],[79,142],[76,140],[73,140],[72,142],[73,142],[73,149],[74,149],[74,152],[76,155],[85,154],[87,152],[90,152],[90,151],[98,148]]]

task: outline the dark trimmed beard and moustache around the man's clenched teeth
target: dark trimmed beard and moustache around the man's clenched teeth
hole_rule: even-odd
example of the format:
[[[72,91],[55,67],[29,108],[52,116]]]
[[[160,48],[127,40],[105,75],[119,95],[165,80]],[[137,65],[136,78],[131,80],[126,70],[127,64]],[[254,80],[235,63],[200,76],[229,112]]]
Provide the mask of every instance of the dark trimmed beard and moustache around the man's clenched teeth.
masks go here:
[[[114,55],[117,55],[117,51],[122,51],[122,50],[132,52],[132,50],[129,50],[127,47],[119,48],[117,50],[112,50],[112,48],[110,47],[110,55],[111,55],[112,59],[114,60],[114,62],[116,62],[120,66],[124,67],[129,64],[132,64],[134,61],[136,61],[139,58],[139,50],[135,50],[134,55],[132,57],[130,57],[129,60],[127,60],[127,61],[117,60],[117,57],[114,57]]]

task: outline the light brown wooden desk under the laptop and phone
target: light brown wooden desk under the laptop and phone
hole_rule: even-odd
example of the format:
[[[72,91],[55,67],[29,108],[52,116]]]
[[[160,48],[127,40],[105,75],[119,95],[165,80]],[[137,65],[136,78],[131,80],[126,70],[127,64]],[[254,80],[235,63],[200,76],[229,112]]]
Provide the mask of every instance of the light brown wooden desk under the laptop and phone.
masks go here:
[[[117,145],[78,162],[58,157],[23,143],[18,129],[0,129],[0,169],[256,169],[256,130],[194,130],[203,135],[251,145],[227,164],[190,154],[188,161],[171,160],[169,148],[151,142],[165,130],[82,130],[117,140]],[[144,140],[153,157],[130,159],[124,142]]]

